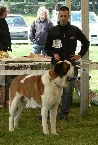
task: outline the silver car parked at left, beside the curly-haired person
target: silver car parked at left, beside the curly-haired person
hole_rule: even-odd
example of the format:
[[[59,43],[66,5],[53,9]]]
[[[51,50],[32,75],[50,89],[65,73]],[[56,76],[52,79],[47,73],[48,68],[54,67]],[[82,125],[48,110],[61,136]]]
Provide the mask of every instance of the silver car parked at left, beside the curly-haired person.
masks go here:
[[[29,27],[22,15],[8,14],[6,21],[10,31],[11,43],[29,43]]]

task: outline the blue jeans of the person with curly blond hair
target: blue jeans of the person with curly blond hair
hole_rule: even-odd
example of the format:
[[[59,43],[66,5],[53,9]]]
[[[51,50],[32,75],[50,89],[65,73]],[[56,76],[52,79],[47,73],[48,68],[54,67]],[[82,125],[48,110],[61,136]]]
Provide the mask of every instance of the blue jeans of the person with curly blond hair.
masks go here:
[[[33,53],[35,53],[35,54],[41,54],[41,51],[42,51],[42,54],[44,55],[44,56],[48,56],[46,53],[45,53],[45,51],[44,51],[44,47],[45,47],[45,45],[37,45],[37,44],[33,44]]]

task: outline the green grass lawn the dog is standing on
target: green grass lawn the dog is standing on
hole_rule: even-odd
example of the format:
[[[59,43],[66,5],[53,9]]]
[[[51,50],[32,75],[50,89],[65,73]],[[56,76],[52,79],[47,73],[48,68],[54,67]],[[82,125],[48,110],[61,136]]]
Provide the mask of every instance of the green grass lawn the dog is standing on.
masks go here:
[[[59,110],[58,110],[59,111]],[[98,108],[92,104],[88,116],[80,115],[79,100],[74,98],[67,121],[57,117],[58,135],[44,135],[40,109],[25,109],[19,127],[8,132],[8,109],[0,110],[0,145],[98,145]],[[48,121],[49,127],[50,123]]]

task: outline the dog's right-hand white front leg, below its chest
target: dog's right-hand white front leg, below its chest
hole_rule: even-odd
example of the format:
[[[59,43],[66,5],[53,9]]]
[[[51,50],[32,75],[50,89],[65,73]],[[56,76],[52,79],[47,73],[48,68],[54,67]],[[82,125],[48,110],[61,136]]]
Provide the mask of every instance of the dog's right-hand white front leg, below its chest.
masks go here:
[[[50,109],[50,122],[51,122],[51,133],[56,134],[56,115],[57,115],[57,108],[58,103],[56,103],[51,109]]]

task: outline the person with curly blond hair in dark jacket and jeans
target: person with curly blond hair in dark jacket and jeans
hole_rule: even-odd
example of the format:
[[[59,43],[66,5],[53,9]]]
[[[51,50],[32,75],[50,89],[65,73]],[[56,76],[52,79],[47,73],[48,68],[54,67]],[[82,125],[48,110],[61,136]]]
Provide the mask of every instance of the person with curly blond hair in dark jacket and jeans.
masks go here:
[[[46,38],[49,29],[53,27],[53,23],[48,19],[49,11],[44,7],[40,7],[37,11],[37,20],[35,20],[30,29],[29,39],[33,42],[33,53],[47,56],[44,51]]]

